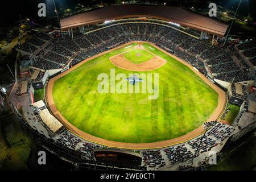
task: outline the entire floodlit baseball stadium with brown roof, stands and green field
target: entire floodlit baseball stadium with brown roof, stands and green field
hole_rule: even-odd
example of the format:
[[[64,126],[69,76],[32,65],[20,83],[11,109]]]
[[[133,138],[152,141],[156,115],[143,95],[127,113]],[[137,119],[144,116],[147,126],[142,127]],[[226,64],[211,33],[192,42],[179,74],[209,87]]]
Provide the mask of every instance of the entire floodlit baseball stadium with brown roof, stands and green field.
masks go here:
[[[221,46],[228,24],[156,5],[59,23],[16,47],[30,62],[6,98],[36,142],[76,169],[203,168],[256,127],[255,70],[240,51],[249,43]]]

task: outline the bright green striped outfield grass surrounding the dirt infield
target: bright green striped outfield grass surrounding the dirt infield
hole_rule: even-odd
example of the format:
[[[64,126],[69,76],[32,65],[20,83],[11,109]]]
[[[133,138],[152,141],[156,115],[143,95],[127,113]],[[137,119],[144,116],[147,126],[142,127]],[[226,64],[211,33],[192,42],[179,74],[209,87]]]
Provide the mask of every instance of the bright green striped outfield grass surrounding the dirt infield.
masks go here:
[[[205,122],[217,107],[218,94],[191,69],[150,44],[143,46],[168,61],[154,71],[139,72],[159,74],[157,100],[148,100],[151,95],[148,93],[98,93],[100,81],[97,76],[100,73],[110,76],[112,68],[115,74],[136,73],[115,67],[109,60],[109,57],[131,51],[135,46],[136,43],[106,53],[55,81],[53,99],[60,113],[86,133],[129,143],[180,137]],[[151,53],[147,53],[148,56]]]

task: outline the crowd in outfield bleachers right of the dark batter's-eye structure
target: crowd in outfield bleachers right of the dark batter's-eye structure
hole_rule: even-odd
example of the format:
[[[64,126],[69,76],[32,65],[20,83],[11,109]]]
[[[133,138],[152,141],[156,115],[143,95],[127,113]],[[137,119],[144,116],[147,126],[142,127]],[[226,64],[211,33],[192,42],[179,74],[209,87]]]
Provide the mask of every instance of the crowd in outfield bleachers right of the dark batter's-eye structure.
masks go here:
[[[162,150],[148,150],[141,152],[142,161],[146,166],[155,167],[163,161],[163,154],[167,156],[172,165],[188,162],[204,152],[212,150],[225,139],[229,138],[235,128],[218,121],[205,122],[207,133],[189,140],[188,142],[164,148]],[[161,155],[161,152],[163,154]]]

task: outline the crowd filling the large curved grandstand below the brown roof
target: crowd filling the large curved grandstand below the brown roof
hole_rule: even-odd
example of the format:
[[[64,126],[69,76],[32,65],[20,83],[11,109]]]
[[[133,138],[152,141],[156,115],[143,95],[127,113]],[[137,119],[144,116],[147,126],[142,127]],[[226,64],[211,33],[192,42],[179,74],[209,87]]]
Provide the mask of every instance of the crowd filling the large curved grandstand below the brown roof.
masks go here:
[[[170,24],[166,25],[171,26]],[[97,27],[94,26],[90,29],[90,26],[88,26],[86,28],[96,30],[94,28]],[[39,33],[36,38],[30,40],[32,44],[25,43],[22,46],[26,50],[29,49],[28,46],[31,46],[33,52],[36,49],[33,45],[40,46],[43,42],[49,42],[43,48],[47,52],[40,51],[38,53],[40,56],[36,59],[47,60],[51,62],[51,68],[54,65],[59,68],[68,64],[69,60],[72,60],[72,63],[75,64],[119,44],[142,40],[157,44],[205,74],[207,74],[205,67],[210,65],[208,67],[210,72],[215,73],[213,77],[219,80],[230,82],[234,77],[236,82],[249,80],[246,65],[238,64],[239,62],[235,63],[226,48],[210,46],[207,40],[196,39],[167,26],[150,23],[125,23],[110,27],[105,26],[101,30],[85,32],[84,34],[77,30],[73,32],[73,35],[73,39],[68,35],[64,35],[63,38],[61,36],[51,38],[47,34]],[[238,48],[248,48],[246,44],[241,44]],[[203,60],[206,60],[206,64]],[[38,65],[38,62],[40,61],[36,60],[35,65]],[[44,67],[48,68],[47,66]]]

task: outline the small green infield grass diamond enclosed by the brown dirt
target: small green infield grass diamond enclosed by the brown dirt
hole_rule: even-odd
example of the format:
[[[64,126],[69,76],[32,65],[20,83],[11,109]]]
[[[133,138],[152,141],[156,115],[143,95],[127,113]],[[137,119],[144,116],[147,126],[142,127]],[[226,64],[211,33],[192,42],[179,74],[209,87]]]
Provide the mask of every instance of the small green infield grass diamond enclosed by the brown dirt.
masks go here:
[[[129,52],[123,53],[123,57],[131,61],[134,64],[143,63],[154,57],[151,53],[144,51],[143,49],[134,49]]]

